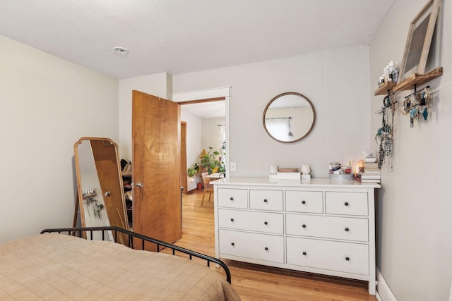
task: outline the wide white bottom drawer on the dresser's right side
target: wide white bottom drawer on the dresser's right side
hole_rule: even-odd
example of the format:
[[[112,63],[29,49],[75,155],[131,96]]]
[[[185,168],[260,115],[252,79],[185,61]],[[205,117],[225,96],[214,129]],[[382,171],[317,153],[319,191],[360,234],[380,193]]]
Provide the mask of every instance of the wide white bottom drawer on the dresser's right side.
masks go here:
[[[369,275],[369,247],[357,243],[286,238],[287,264]]]

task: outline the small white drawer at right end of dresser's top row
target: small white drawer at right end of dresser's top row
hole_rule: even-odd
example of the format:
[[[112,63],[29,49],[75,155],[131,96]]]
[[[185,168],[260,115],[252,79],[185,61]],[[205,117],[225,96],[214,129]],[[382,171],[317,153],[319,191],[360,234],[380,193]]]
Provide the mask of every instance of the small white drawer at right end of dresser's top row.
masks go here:
[[[369,214],[367,192],[325,192],[327,214]]]

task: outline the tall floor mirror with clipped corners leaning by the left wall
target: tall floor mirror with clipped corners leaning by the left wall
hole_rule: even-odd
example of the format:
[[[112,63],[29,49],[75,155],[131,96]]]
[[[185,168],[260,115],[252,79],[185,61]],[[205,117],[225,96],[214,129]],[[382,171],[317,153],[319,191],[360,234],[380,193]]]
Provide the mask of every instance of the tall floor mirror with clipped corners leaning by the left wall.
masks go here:
[[[74,156],[81,226],[129,229],[116,143],[82,137],[74,145]]]

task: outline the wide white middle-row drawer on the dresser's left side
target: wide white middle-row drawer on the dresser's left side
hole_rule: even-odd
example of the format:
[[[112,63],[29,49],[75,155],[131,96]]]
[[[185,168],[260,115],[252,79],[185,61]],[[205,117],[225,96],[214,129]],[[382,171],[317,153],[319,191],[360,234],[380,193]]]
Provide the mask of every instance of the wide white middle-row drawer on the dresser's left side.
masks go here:
[[[247,231],[283,234],[282,213],[218,209],[218,226]]]

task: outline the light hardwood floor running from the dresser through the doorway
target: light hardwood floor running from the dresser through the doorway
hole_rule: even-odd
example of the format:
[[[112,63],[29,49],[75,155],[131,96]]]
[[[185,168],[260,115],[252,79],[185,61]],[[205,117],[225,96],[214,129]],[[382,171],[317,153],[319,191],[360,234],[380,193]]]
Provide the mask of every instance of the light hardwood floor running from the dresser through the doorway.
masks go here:
[[[215,257],[213,196],[201,207],[202,192],[184,195],[182,239],[176,245]],[[366,281],[321,276],[224,260],[242,300],[372,300]]]

